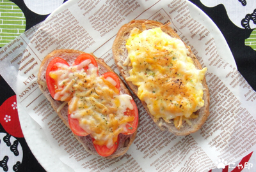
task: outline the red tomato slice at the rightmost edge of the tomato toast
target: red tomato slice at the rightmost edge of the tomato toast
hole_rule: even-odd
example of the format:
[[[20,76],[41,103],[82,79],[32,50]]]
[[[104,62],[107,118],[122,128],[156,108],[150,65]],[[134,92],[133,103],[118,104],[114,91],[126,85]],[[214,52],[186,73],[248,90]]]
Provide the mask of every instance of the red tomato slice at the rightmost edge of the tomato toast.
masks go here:
[[[139,121],[138,108],[137,108],[136,103],[134,102],[133,99],[131,100],[131,103],[132,103],[132,106],[133,106],[133,110],[130,110],[129,108],[127,108],[124,115],[134,117],[134,120],[132,122],[128,122],[128,124],[126,124],[127,131],[125,133],[123,133],[125,135],[129,135],[129,134],[134,133],[134,131],[136,131],[136,129],[138,127],[138,121]]]

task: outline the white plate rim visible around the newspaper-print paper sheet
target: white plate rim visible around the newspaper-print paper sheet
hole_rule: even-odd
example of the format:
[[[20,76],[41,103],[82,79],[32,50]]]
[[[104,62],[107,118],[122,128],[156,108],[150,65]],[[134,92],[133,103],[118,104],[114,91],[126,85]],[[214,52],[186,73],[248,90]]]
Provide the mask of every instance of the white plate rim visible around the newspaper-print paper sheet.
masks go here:
[[[74,3],[74,1],[73,0],[67,1],[67,3],[64,3],[63,5],[61,5],[52,14],[65,10],[68,6],[71,6],[72,3]],[[229,62],[233,66],[236,66],[236,62],[234,61],[234,57],[231,54],[231,51],[227,45],[225,38],[221,34],[218,27],[214,24],[214,22],[212,22],[211,18],[209,18],[204,13],[204,11],[200,10],[200,8],[195,6],[195,4],[189,1],[188,1],[188,6],[191,12],[191,16],[195,18],[195,20],[197,20],[198,22],[201,22],[203,25],[206,25],[208,28],[211,28],[210,31],[212,36],[214,37],[214,40],[216,42],[216,47],[220,52],[220,56],[225,57],[225,61]],[[26,138],[26,142],[28,143],[28,146],[31,149],[31,152],[33,152],[38,162],[40,162],[40,164],[44,167],[44,169],[49,172],[73,171],[68,166],[63,164],[63,162],[60,161],[58,155],[61,154],[61,152],[58,152],[52,149],[40,125],[38,125],[28,115],[28,113],[26,113],[24,108],[19,103],[17,104],[18,104],[20,125],[22,128],[22,132],[24,134],[24,138]]]

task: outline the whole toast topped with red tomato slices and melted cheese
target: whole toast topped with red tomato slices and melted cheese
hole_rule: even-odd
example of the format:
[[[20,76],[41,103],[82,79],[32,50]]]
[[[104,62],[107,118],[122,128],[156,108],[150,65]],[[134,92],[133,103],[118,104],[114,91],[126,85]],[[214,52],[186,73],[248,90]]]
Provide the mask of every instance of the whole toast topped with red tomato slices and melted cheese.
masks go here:
[[[38,84],[63,122],[91,154],[118,157],[136,136],[131,92],[102,59],[55,50],[42,61]]]

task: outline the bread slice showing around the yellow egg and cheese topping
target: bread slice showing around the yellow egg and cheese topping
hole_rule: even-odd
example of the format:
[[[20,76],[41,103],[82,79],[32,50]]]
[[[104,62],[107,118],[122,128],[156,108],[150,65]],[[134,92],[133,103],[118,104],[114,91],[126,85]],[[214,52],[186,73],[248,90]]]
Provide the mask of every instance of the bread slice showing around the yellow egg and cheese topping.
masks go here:
[[[153,20],[132,20],[128,24],[123,25],[120,30],[118,31],[115,41],[113,43],[113,56],[116,62],[116,66],[118,67],[121,75],[125,78],[129,77],[129,70],[132,69],[132,66],[124,66],[123,63],[125,59],[127,59],[128,52],[127,49],[125,48],[125,43],[126,40],[129,38],[130,32],[134,27],[137,27],[140,29],[140,31],[145,31],[147,29],[152,29],[155,27],[161,27],[161,30],[165,32],[166,34],[170,35],[173,38],[179,38],[179,35],[176,34],[175,31],[173,31],[172,27],[169,27],[168,25],[163,25],[160,22],[156,22]],[[186,43],[184,43],[186,45]],[[202,66],[200,65],[200,62],[196,59],[195,55],[193,52],[191,52],[190,47],[186,45],[186,48],[189,49],[189,57],[193,59],[193,62],[196,66],[197,69],[202,69]],[[130,87],[132,92],[134,92],[135,95],[138,94],[138,87],[136,85],[133,85],[132,82],[129,82],[125,79],[125,82],[127,82],[127,85]],[[190,133],[195,133],[202,127],[204,124],[205,120],[207,120],[207,117],[209,116],[209,90],[207,87],[206,80],[204,78],[203,82],[203,87],[204,87],[204,106],[200,108],[200,110],[196,111],[196,114],[198,114],[198,118],[195,119],[189,119],[192,123],[192,125],[188,125],[186,122],[182,123],[183,127],[180,129],[177,129],[175,125],[173,124],[173,120],[168,123],[163,120],[163,118],[159,118],[159,120],[154,119],[154,117],[150,114],[148,108],[147,108],[147,103],[144,101],[141,101],[143,104],[145,110],[147,110],[148,115],[154,120],[156,125],[159,127],[161,130],[168,130],[170,133],[176,134],[176,135],[188,135]]]

